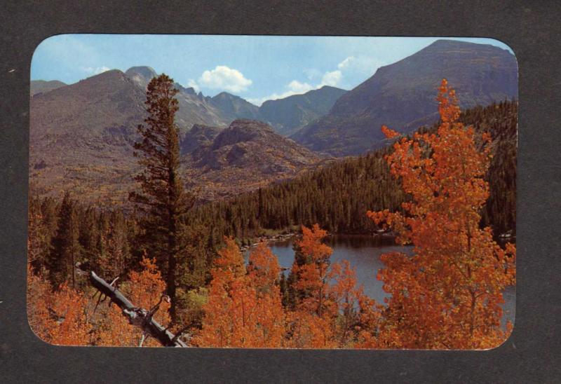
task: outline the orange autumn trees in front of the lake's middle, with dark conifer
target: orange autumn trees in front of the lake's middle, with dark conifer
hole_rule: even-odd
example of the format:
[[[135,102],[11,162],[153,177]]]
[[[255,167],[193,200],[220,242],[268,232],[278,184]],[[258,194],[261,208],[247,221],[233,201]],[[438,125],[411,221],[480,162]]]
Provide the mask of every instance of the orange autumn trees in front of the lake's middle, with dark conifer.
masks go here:
[[[346,348],[362,340],[360,331],[377,321],[373,300],[357,287],[356,270],[348,261],[331,265],[327,232],[318,224],[302,227],[289,277],[295,296],[287,313],[290,348]]]

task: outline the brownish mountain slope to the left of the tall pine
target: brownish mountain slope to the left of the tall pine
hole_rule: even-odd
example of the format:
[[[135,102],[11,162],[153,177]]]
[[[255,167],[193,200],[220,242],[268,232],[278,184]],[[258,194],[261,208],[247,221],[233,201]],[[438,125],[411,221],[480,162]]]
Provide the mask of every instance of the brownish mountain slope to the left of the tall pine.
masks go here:
[[[97,196],[136,167],[144,92],[118,70],[32,97],[29,177],[41,193]]]

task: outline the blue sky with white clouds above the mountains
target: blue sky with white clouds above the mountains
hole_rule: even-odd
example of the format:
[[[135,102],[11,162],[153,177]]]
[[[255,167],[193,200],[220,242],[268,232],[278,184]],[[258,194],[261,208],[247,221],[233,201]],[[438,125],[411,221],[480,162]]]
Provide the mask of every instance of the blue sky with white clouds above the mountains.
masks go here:
[[[259,105],[323,85],[352,89],[379,67],[412,55],[438,39],[64,34],[39,44],[33,55],[31,78],[75,83],[108,69],[126,71],[147,65],[204,95],[227,91]],[[494,39],[455,40],[492,44],[512,52]]]

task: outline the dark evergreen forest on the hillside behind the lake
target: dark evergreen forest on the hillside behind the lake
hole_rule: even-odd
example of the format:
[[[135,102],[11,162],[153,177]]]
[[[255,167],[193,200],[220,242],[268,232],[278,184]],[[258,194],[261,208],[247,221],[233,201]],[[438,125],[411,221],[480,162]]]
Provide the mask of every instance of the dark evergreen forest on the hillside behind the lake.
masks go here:
[[[517,118],[515,101],[475,107],[460,118],[477,132],[489,132],[494,141],[494,157],[487,175],[490,196],[482,212],[482,226],[492,226],[495,235],[515,231]],[[437,127],[435,124],[419,131]],[[218,238],[234,235],[242,242],[271,230],[290,231],[302,224],[318,223],[332,233],[371,232],[376,228],[367,219],[367,210],[399,210],[407,200],[384,160],[391,150],[386,146],[291,181],[201,205],[191,214],[191,220],[210,228]]]

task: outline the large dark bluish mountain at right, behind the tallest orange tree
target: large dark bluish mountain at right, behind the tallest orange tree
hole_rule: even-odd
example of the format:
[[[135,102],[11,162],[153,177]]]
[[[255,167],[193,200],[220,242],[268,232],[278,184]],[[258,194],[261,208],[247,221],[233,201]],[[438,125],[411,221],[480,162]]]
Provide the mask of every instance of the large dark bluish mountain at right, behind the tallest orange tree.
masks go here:
[[[382,124],[405,132],[437,120],[435,96],[442,78],[457,90],[462,109],[518,96],[514,55],[494,46],[439,40],[379,68],[292,138],[335,156],[363,153],[384,139]]]

